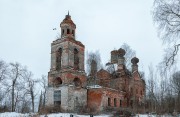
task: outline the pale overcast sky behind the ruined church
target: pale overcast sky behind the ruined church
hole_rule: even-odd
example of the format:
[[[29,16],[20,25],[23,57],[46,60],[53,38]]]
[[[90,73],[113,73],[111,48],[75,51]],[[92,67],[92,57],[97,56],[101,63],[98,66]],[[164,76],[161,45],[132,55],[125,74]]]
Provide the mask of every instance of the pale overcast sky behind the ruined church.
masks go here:
[[[85,51],[99,50],[105,64],[111,50],[127,43],[147,71],[163,55],[152,6],[153,0],[0,0],[0,59],[26,65],[35,77],[47,75],[51,42],[69,10]]]

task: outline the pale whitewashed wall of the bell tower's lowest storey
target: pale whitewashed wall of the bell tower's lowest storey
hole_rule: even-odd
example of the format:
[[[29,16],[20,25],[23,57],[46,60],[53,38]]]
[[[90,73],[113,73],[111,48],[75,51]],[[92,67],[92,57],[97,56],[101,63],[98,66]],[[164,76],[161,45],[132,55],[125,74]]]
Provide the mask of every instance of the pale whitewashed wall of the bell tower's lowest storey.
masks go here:
[[[87,105],[87,89],[76,88],[73,85],[61,87],[49,87],[47,89],[46,106],[54,106],[54,91],[61,91],[61,104],[59,105],[64,111],[79,112]]]

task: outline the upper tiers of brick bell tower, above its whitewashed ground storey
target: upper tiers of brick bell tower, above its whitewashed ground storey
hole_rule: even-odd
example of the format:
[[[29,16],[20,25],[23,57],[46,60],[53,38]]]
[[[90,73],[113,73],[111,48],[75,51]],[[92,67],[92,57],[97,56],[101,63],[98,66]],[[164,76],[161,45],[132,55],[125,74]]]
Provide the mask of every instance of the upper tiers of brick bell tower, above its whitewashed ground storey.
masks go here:
[[[71,16],[66,15],[60,24],[61,38],[51,43],[51,69],[49,86],[72,84],[74,78],[85,86],[84,45],[75,38],[76,25]],[[58,80],[59,82],[55,81]]]

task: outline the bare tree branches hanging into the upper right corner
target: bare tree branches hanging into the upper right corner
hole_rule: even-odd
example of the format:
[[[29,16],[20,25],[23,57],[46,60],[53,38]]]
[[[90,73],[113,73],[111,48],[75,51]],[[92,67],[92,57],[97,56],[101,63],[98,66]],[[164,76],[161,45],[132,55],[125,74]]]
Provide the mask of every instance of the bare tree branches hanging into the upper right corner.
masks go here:
[[[165,56],[166,66],[172,65],[180,46],[180,0],[155,0],[153,20],[157,25],[160,38],[173,50]]]

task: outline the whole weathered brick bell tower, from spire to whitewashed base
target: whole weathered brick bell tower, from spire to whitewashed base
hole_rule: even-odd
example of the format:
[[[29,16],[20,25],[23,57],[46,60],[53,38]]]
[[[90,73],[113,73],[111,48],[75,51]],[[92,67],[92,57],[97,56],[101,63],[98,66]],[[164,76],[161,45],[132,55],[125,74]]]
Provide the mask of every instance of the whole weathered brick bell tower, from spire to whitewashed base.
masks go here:
[[[60,105],[74,110],[75,105],[86,103],[86,74],[84,71],[85,46],[76,40],[76,25],[68,14],[60,23],[61,37],[51,43],[51,68],[48,72],[46,105]],[[84,94],[82,93],[84,92]],[[81,94],[80,94],[81,93]],[[79,97],[78,97],[79,96]],[[81,105],[83,106],[83,105]]]

